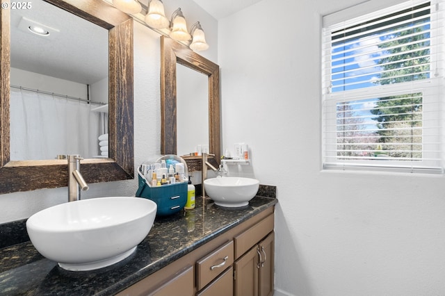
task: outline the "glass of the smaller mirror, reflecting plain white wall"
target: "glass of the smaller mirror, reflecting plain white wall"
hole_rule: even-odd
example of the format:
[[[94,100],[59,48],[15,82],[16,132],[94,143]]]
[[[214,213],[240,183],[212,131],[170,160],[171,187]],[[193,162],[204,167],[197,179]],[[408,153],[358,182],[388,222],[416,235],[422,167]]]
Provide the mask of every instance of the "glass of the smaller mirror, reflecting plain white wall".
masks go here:
[[[208,76],[177,64],[177,151],[178,155],[209,151]]]

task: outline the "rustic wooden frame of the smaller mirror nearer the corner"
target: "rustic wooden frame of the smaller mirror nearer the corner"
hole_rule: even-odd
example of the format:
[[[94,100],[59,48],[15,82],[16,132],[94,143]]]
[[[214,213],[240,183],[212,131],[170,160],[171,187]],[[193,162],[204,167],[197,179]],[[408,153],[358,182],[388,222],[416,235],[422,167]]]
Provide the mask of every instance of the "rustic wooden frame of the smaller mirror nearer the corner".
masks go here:
[[[161,154],[177,154],[176,63],[209,77],[209,152],[219,163],[220,67],[165,36],[161,36]]]

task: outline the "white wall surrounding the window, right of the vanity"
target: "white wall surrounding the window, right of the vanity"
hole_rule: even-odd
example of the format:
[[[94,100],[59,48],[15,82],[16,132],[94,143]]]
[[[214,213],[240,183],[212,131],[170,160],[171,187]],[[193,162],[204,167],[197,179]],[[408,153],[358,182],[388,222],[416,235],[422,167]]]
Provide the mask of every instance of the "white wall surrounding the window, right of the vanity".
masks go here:
[[[321,14],[354,2],[220,20],[223,145],[277,186],[275,295],[445,295],[443,176],[321,172]]]

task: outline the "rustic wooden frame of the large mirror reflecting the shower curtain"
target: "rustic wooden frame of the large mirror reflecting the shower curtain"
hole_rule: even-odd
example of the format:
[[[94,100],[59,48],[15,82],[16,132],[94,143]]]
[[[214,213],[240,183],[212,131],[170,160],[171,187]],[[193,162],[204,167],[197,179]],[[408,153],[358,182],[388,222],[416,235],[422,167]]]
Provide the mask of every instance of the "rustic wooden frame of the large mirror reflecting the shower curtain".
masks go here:
[[[134,179],[133,19],[102,0],[44,1],[108,30],[109,158],[81,161],[83,178],[87,183]],[[66,160],[10,161],[9,9],[1,9],[0,24],[0,194],[65,187]]]

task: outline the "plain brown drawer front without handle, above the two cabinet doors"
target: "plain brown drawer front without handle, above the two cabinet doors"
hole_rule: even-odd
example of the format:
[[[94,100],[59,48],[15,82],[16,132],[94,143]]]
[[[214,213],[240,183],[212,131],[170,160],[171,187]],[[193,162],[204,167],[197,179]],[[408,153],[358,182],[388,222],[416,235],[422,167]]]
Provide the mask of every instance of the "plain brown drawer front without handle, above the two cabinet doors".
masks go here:
[[[258,224],[250,227],[250,229],[244,231],[238,236],[234,237],[235,242],[235,258],[239,258],[245,252],[255,244],[257,244],[261,239],[273,231],[274,222],[273,214],[268,215],[263,220],[258,222]]]

